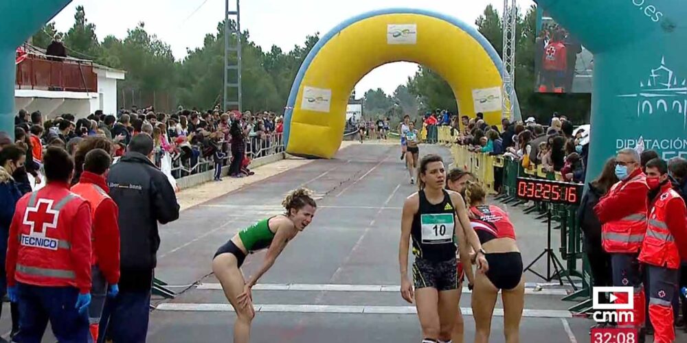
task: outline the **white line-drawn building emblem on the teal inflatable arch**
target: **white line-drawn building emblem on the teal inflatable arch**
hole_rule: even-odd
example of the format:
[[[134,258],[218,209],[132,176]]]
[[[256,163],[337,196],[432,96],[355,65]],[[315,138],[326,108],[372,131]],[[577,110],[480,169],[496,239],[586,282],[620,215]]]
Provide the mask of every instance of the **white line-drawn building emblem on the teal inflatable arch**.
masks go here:
[[[687,128],[687,79],[679,78],[673,69],[666,66],[666,58],[661,65],[651,69],[649,78],[640,81],[639,91],[622,94],[618,97],[635,99],[637,117],[642,115],[680,115]]]

